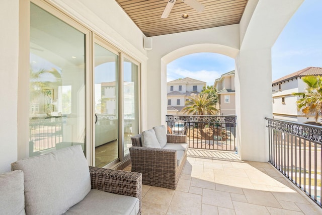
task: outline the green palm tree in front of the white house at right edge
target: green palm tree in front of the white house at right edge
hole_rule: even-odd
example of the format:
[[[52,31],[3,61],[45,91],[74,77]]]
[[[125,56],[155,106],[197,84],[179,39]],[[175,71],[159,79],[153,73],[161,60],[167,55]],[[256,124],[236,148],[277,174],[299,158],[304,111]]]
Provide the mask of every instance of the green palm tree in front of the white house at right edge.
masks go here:
[[[305,76],[302,80],[307,85],[305,92],[292,95],[302,97],[296,102],[297,109],[305,115],[314,115],[317,122],[322,111],[322,77]]]

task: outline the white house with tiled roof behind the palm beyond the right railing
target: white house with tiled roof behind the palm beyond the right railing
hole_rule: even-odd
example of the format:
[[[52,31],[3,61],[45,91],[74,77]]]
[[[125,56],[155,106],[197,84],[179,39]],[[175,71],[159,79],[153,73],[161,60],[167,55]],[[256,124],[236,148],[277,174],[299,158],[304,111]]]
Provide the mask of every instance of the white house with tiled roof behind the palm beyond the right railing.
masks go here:
[[[313,115],[302,115],[297,110],[296,101],[300,98],[292,93],[304,92],[307,85],[302,81],[304,76],[322,76],[321,67],[307,67],[282,77],[272,83],[273,87],[273,118],[299,123],[321,125],[319,117],[315,123]]]

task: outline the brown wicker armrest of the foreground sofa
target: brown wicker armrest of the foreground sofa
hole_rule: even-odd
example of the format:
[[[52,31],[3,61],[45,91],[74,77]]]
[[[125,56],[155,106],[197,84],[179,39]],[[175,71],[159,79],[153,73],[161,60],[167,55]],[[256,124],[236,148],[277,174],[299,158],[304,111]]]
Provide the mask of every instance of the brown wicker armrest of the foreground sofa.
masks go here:
[[[141,214],[142,175],[140,173],[90,166],[90,174],[92,189],[138,198],[139,214]]]

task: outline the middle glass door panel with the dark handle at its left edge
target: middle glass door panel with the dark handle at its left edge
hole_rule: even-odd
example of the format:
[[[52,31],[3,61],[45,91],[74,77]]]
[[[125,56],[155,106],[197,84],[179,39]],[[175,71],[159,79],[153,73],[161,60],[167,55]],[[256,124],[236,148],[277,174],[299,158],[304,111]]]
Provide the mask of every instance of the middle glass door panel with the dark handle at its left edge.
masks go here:
[[[95,44],[95,166],[119,159],[118,55]]]

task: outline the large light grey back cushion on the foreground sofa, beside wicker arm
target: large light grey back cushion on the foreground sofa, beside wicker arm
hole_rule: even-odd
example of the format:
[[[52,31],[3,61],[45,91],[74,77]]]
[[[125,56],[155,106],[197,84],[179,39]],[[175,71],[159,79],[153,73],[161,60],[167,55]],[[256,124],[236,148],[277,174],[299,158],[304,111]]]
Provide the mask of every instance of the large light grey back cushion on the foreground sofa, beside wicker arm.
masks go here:
[[[80,145],[19,160],[12,168],[24,172],[27,214],[62,214],[92,187]]]

